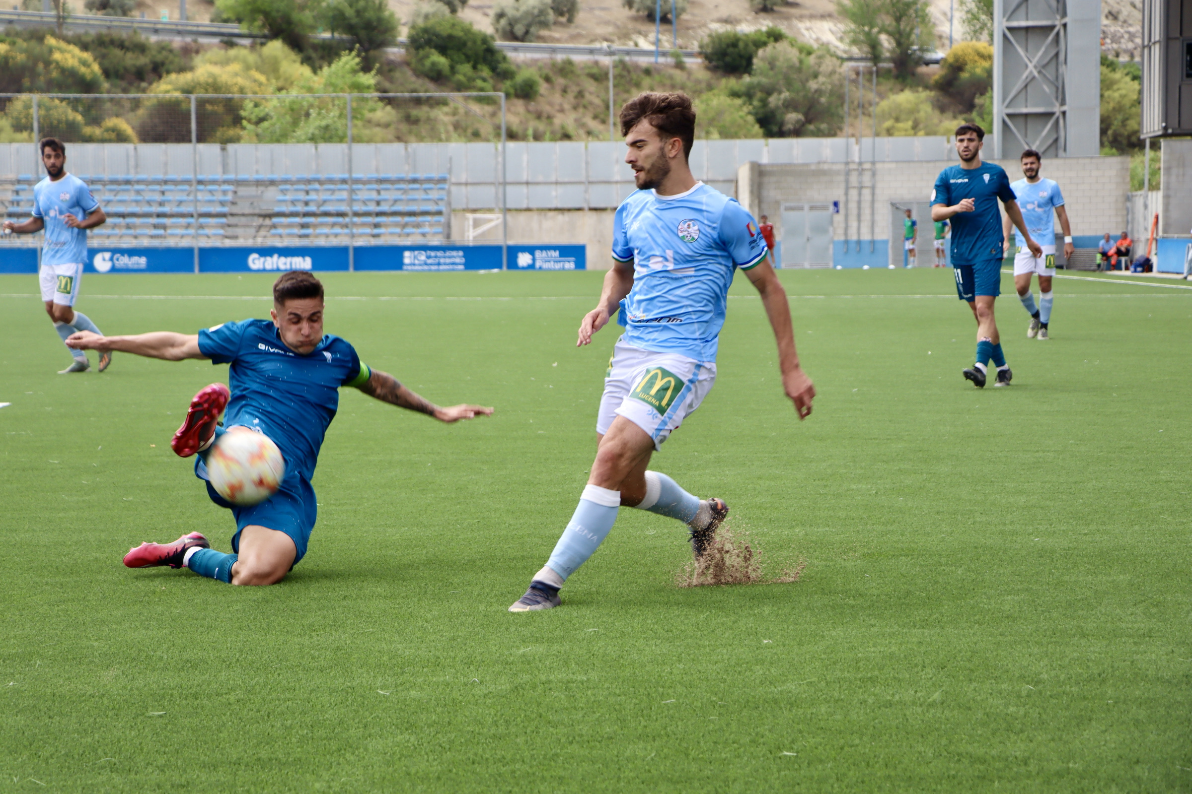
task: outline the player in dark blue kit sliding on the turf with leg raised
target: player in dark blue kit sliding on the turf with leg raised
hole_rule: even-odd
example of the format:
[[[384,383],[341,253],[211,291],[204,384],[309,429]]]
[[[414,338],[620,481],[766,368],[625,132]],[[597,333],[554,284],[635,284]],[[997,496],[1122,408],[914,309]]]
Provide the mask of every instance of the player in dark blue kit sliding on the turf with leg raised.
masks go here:
[[[323,335],[323,285],[309,273],[291,271],[273,285],[269,320],[224,323],[197,335],[159,331],[131,337],[76,333],[70,344],[92,350],[119,350],[150,358],[181,361],[210,358],[231,364],[231,393],[212,383],[194,395],[186,421],[170,446],[181,457],[195,452],[194,474],[206,480],[205,452],[224,432],[217,426],[226,407],[229,432],[265,433],[286,461],[281,487],[271,499],[237,507],[207,482],[207,494],[236,517],[232,554],[209,548],[198,532],[173,543],[143,543],[129,551],[130,568],[169,565],[231,584],[273,584],[281,581],[306,554],[317,506],[310,481],[328,425],[339,407],[339,388],[352,386],[365,394],[441,421],[491,414],[492,408],[457,405],[440,408],[380,370],[360,362],[350,344]],[[229,401],[230,398],[230,401]]]

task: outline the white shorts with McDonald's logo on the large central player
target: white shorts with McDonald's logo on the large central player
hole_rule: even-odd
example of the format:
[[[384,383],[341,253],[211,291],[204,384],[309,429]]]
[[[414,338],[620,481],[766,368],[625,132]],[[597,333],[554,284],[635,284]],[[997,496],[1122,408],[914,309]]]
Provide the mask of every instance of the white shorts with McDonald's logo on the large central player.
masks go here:
[[[662,449],[715,382],[715,364],[617,342],[604,377],[596,432],[603,436],[621,415],[646,431],[656,450]]]

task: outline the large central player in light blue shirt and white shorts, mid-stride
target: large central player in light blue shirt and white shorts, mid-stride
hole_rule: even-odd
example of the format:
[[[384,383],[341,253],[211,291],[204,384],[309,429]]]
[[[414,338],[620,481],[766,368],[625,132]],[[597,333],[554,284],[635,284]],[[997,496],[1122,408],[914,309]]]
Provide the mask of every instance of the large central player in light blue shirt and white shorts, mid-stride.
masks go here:
[[[735,200],[697,182],[688,167],[695,112],[683,94],[645,93],[621,108],[621,132],[638,190],[616,210],[613,268],[596,308],[579,325],[577,346],[620,306],[625,333],[614,348],[596,418],[598,451],[588,486],[546,565],[510,612],[550,609],[559,589],[613,529],[617,509],[637,507],[690,529],[699,559],[728,506],[700,500],[650,456],[695,411],[716,380],[716,346],[728,287],[745,270],[778,343],[778,368],[800,419],[815,389],[799,365],[787,294],[766,261],[753,218]]]

